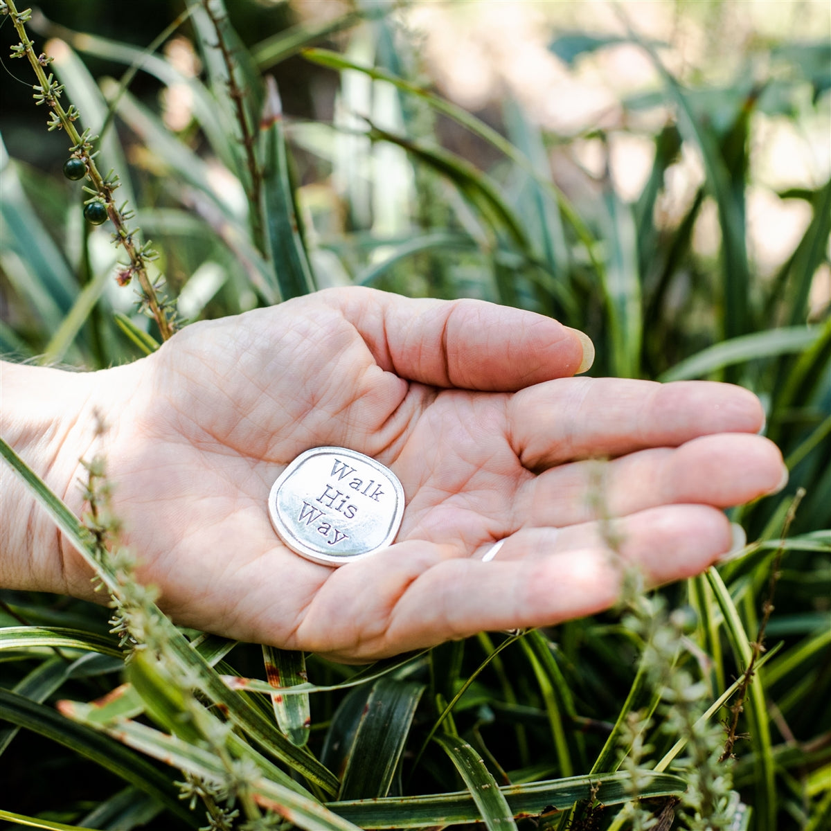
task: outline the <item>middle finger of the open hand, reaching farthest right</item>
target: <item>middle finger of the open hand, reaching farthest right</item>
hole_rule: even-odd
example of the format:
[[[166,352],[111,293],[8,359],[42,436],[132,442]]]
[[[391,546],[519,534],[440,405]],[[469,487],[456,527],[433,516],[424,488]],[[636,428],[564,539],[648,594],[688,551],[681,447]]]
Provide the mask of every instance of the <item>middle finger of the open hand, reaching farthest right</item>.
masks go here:
[[[524,484],[529,496],[520,494],[514,522],[516,528],[562,527],[663,504],[727,508],[773,493],[786,475],[772,441],[741,433],[706,435],[677,448],[546,470]]]

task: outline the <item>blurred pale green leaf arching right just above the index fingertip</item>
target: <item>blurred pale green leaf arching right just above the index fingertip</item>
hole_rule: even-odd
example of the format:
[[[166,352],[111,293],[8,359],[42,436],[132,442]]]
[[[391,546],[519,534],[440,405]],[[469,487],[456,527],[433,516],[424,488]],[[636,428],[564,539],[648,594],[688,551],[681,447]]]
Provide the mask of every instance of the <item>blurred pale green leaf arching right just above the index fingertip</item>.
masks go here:
[[[802,352],[821,335],[818,326],[794,326],[754,332],[716,343],[667,370],[659,381],[687,381],[701,378],[725,366],[777,355]]]

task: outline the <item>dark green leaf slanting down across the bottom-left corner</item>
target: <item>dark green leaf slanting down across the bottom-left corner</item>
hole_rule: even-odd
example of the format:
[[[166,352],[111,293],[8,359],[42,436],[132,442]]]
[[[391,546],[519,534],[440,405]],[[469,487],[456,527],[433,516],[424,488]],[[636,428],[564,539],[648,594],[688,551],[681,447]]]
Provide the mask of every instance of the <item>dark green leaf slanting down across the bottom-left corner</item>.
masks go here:
[[[177,789],[170,780],[117,741],[85,725],[75,724],[49,707],[3,689],[0,689],[0,718],[86,756],[96,765],[150,794],[190,827],[196,826],[193,815],[179,802]]]

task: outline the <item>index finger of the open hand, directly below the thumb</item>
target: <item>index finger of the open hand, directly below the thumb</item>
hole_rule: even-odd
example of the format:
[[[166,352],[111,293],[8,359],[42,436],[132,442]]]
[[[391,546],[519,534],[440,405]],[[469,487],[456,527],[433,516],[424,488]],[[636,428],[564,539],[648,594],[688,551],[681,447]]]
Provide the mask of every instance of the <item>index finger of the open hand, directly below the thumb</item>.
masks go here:
[[[708,433],[756,433],[764,422],[753,393],[713,381],[561,379],[519,391],[508,410],[511,445],[529,470]]]

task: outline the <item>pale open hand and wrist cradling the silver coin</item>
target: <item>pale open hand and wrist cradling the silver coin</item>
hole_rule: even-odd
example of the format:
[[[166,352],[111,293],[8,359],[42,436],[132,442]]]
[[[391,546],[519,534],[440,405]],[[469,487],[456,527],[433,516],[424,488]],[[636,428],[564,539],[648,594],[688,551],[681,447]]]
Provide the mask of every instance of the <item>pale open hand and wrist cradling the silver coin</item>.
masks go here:
[[[333,289],[191,325],[129,366],[3,364],[0,426],[79,515],[79,460],[106,454],[125,542],[175,622],[369,661],[599,612],[626,568],[699,573],[735,548],[722,509],[784,485],[750,392],[571,377],[584,341],[483,302]],[[376,458],[406,493],[396,543],[342,568],[284,547],[266,508],[321,445]],[[2,500],[0,584],[98,597],[7,467]]]

